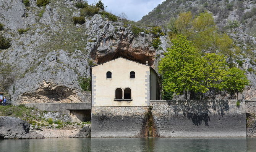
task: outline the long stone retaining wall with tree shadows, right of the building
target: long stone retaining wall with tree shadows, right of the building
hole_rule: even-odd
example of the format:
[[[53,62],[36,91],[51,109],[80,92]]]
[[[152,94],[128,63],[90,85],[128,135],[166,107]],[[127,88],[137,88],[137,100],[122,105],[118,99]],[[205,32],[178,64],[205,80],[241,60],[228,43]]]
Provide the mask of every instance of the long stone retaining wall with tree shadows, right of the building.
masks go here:
[[[245,101],[151,100],[160,137],[246,137]]]

